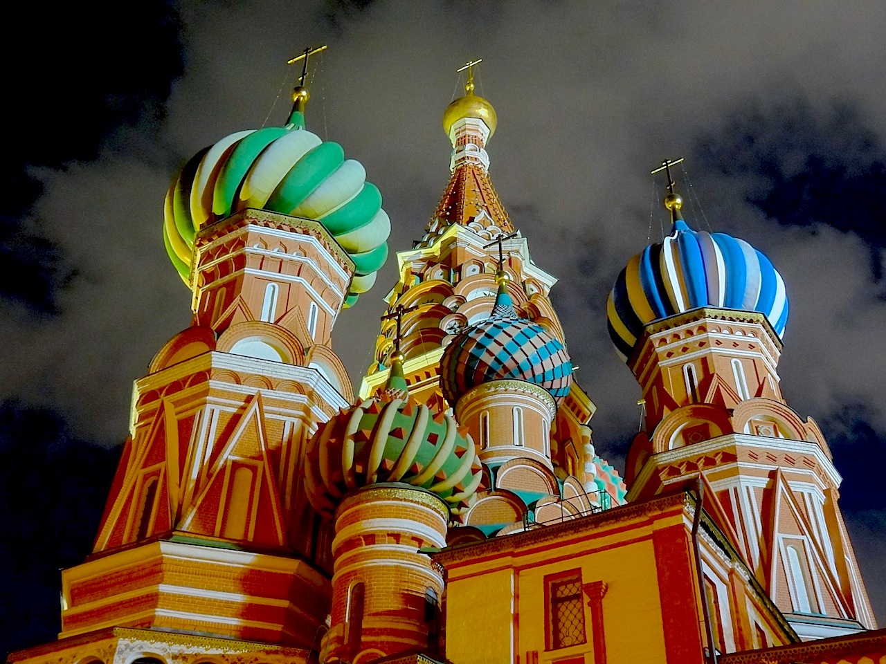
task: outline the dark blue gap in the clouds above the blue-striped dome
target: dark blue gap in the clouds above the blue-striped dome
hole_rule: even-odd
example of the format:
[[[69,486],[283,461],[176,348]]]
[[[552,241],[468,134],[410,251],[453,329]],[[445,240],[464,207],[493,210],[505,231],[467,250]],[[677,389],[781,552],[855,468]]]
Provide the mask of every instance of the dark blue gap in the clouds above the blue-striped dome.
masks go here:
[[[827,224],[871,245],[881,277],[886,246],[886,147],[856,104],[808,100],[742,109],[700,141],[703,166],[746,183],[746,198],[784,225]]]

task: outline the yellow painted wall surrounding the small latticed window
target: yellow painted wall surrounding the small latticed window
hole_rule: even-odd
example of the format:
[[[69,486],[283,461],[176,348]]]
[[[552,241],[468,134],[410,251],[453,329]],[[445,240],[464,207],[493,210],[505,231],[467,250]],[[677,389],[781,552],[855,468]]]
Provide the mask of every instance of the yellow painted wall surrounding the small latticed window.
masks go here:
[[[636,537],[639,533],[634,531],[631,535]],[[612,544],[612,537],[604,539],[608,540],[605,544]],[[540,664],[582,655],[587,664],[594,661],[587,596],[583,596],[587,643],[545,652],[548,607],[544,577],[577,567],[581,569],[582,583],[603,581],[608,585],[602,608],[609,664],[664,661],[664,628],[651,540],[597,552],[587,548],[586,541],[515,556],[514,639],[515,654],[521,664],[531,651],[538,652]],[[482,566],[481,563],[470,571],[473,566],[461,567],[449,576],[447,659],[454,664],[517,661],[517,657],[510,656],[511,626],[506,620],[511,614],[510,570],[477,574]],[[477,575],[466,576],[472,573]]]

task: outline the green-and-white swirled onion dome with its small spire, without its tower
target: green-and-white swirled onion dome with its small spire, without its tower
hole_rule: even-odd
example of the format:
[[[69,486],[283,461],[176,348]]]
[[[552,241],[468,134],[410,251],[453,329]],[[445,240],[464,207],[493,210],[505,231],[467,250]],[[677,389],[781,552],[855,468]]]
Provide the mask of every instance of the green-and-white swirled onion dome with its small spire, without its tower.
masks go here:
[[[307,90],[284,127],[237,132],[199,151],[172,182],[166,197],[163,241],[188,283],[194,238],[200,228],[245,208],[320,221],[354,260],[346,306],[376,280],[385,264],[391,220],[378,188],[360,162],[338,143],[305,129]]]

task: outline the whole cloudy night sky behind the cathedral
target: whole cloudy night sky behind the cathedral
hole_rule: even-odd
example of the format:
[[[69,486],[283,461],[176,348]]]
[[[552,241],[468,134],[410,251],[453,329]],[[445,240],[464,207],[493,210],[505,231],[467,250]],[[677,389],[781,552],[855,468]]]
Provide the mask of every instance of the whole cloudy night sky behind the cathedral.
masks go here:
[[[57,634],[58,569],[89,552],[132,381],[190,323],[160,233],[169,179],[224,135],[282,124],[298,73],[284,62],[319,43],[307,126],[366,166],[392,251],[437,205],[455,69],[483,58],[478,93],[499,116],[490,174],[535,263],[561,279],[552,298],[599,407],[597,450],[618,467],[639,388],[605,300],[667,231],[649,170],[686,157],[689,224],[748,240],[787,283],[782,390],[828,436],[886,622],[886,4],[98,7],[19,4],[4,35],[0,651]],[[355,382],[394,264],[338,321]]]

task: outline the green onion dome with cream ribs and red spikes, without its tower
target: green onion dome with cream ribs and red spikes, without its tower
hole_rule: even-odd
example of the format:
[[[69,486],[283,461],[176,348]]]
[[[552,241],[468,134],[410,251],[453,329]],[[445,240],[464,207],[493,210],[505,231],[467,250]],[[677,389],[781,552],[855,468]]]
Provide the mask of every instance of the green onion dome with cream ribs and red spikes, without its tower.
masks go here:
[[[408,398],[402,357],[392,360],[385,390],[339,412],[307,445],[305,489],[319,513],[331,517],[350,491],[393,482],[429,490],[459,513],[480,487],[470,435],[452,415]]]

